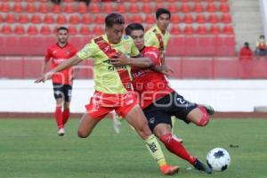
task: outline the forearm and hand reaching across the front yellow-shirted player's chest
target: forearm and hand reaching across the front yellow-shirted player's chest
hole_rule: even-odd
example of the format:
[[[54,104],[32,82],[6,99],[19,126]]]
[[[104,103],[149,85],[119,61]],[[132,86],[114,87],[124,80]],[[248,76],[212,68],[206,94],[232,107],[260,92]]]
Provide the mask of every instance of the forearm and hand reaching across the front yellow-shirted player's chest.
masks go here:
[[[147,57],[129,58],[124,53],[119,52],[117,58],[110,59],[114,66],[130,65],[136,68],[150,68],[153,62]]]

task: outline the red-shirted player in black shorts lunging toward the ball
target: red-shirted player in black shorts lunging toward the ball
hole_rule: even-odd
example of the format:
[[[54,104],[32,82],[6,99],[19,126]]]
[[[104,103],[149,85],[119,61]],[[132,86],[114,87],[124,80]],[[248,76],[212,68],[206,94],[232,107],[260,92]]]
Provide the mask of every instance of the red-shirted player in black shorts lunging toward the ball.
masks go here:
[[[172,134],[171,117],[175,116],[186,123],[204,126],[209,121],[213,109],[191,103],[171,88],[165,74],[172,72],[166,65],[161,65],[160,52],[157,48],[144,45],[144,28],[139,23],[132,23],[125,28],[125,33],[134,39],[134,44],[143,57],[149,57],[154,67],[147,69],[132,68],[134,91],[139,94],[140,105],[149,121],[150,130],[158,136],[166,149],[183,158],[198,170],[211,174],[212,170],[193,157],[183,147],[182,142]],[[160,72],[159,72],[160,71]]]

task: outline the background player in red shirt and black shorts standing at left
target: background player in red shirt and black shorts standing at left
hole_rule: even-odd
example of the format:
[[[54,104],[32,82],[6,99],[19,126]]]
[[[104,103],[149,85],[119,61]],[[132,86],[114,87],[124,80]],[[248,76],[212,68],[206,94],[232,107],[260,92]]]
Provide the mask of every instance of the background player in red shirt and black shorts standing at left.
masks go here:
[[[46,50],[44,65],[42,69],[42,76],[51,61],[51,67],[54,69],[60,65],[63,61],[67,61],[69,58],[77,53],[76,48],[68,43],[69,29],[61,27],[57,29],[58,41],[56,44],[52,44]],[[53,75],[53,95],[56,100],[56,109],[54,111],[54,117],[56,118],[58,125],[58,134],[63,136],[65,134],[64,125],[69,119],[69,105],[72,91],[73,73],[72,69],[64,69],[61,72],[57,72]],[[63,111],[62,111],[63,105]]]

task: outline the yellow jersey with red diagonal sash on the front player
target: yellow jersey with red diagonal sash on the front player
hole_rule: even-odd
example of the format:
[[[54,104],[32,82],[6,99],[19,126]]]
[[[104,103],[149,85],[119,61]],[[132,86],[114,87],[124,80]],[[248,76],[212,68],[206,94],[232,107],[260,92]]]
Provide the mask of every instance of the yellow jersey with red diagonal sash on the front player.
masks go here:
[[[112,54],[121,51],[128,56],[137,56],[138,49],[134,45],[134,41],[130,36],[123,36],[119,44],[109,44],[107,35],[94,38],[91,43],[77,53],[77,56],[86,60],[93,58],[93,77],[94,89],[102,93],[126,93],[125,86],[118,75],[117,69],[126,69],[130,75],[130,66],[120,68],[110,64],[109,59]]]

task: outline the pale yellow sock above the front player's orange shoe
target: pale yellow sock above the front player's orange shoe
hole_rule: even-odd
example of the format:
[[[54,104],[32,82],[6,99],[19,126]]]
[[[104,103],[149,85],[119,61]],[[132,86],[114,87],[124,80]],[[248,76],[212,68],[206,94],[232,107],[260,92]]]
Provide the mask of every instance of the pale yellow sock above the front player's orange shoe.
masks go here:
[[[158,166],[165,166],[166,159],[163,155],[163,152],[158,144],[158,141],[154,134],[151,134],[149,138],[145,140],[146,146],[150,151],[151,156],[157,161]]]

